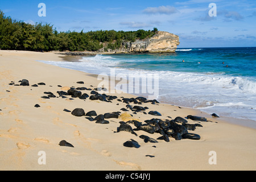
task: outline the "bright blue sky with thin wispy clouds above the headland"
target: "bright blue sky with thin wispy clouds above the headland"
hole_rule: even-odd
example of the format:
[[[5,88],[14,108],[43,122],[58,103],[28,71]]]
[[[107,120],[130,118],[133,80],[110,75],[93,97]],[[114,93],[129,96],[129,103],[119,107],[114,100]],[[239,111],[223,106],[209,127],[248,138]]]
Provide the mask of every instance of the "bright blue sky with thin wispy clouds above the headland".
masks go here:
[[[39,3],[46,4],[46,17],[38,16]],[[216,4],[216,17],[209,16],[210,3]],[[255,0],[1,0],[0,9],[16,20],[51,23],[58,31],[157,27],[179,35],[179,48],[256,47]]]

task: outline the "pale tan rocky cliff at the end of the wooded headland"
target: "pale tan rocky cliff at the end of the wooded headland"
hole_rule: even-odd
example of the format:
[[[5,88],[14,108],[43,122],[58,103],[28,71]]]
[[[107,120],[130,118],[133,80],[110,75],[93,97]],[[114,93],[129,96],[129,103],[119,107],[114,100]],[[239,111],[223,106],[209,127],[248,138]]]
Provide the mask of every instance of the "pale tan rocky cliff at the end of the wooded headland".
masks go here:
[[[158,31],[146,40],[124,42],[120,51],[123,52],[175,52],[179,46],[179,36],[169,32]]]

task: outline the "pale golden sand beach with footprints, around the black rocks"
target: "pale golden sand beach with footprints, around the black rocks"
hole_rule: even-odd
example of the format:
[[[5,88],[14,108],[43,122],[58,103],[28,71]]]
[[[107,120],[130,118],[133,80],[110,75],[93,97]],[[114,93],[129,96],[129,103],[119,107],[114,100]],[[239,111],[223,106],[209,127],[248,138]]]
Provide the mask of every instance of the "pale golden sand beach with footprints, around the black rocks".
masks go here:
[[[72,86],[92,90],[100,82],[89,73],[59,68],[40,63],[67,61],[68,58],[52,52],[0,51],[0,170],[85,170],[85,171],[171,171],[171,170],[252,170],[256,169],[256,130],[234,125],[223,118],[214,118],[200,110],[167,104],[148,107],[147,114],[122,111],[126,103],[118,100],[81,100],[59,97],[57,91],[67,92]],[[26,79],[30,86],[15,86]],[[78,84],[83,81],[84,84]],[[43,82],[46,85],[38,85]],[[13,83],[13,84],[11,84]],[[11,85],[10,85],[11,84]],[[32,85],[37,84],[38,87]],[[59,98],[42,98],[44,92],[52,92]],[[81,90],[89,96],[90,90]],[[136,98],[130,94],[109,94],[122,100]],[[38,104],[40,107],[35,107]],[[135,106],[136,104],[130,103]],[[119,118],[106,119],[101,125],[85,116],[76,117],[64,109],[96,111],[97,115],[120,111]],[[158,111],[162,116],[148,114]],[[133,115],[133,116],[131,116]],[[157,139],[159,133],[134,130],[116,132],[121,121],[137,120],[144,124],[147,119],[175,119],[196,115],[208,122],[192,121],[196,127],[189,133],[200,135],[200,140],[169,138],[158,143],[144,142],[139,138],[147,135]],[[170,118],[171,117],[171,118]],[[93,117],[94,118],[94,117]],[[130,126],[135,129],[133,124]],[[133,139],[141,146],[130,148],[123,143]],[[60,146],[61,140],[74,147]],[[40,151],[46,154],[46,164],[40,164]],[[211,151],[216,152],[216,164],[210,164]]]

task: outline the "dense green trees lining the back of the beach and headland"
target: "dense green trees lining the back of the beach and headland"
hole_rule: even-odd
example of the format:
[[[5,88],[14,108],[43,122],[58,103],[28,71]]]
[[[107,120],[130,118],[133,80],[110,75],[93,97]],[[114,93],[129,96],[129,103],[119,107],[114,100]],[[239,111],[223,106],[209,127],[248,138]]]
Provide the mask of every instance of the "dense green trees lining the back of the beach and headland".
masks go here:
[[[118,49],[123,42],[150,38],[158,31],[58,32],[51,24],[35,25],[6,17],[0,10],[0,49],[23,51],[98,51]]]

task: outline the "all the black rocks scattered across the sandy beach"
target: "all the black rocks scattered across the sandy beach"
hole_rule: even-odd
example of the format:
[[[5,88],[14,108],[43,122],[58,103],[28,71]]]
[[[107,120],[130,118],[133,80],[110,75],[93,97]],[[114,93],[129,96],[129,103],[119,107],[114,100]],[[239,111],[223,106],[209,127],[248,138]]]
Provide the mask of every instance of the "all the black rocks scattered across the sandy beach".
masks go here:
[[[19,81],[19,86],[29,86],[29,82],[26,79],[23,79]],[[77,82],[77,84],[84,84],[84,82]],[[11,82],[9,85],[15,85],[14,82]],[[46,85],[43,82],[40,82],[38,85]],[[36,85],[32,85],[36,86]],[[58,85],[61,87],[60,85]],[[148,107],[143,107],[143,103],[151,103],[152,105],[159,104],[157,100],[147,100],[147,98],[144,97],[137,97],[137,98],[118,98],[117,96],[108,96],[106,94],[100,94],[97,91],[104,88],[85,88],[85,87],[79,87],[79,88],[71,88],[67,92],[64,91],[57,91],[56,93],[59,94],[59,97],[56,97],[55,94],[52,92],[44,92],[46,96],[42,96],[42,98],[49,99],[49,98],[67,98],[67,96],[71,96],[72,98],[79,98],[81,100],[86,100],[89,98],[89,100],[99,100],[102,102],[112,102],[113,100],[117,100],[119,102],[122,102],[123,104],[126,104],[126,108],[121,108],[120,110],[126,111],[126,112],[133,112],[133,114],[137,114],[139,112],[144,114],[150,114],[154,116],[162,116],[158,111],[148,111]],[[82,93],[81,90],[90,90],[90,96],[86,93]],[[137,105],[131,105],[131,104],[137,104]],[[117,104],[119,105],[119,104]],[[36,104],[35,107],[40,107],[40,105]],[[105,113],[105,114],[97,114],[96,111],[88,111],[85,113],[84,109],[82,108],[76,108],[73,111],[70,111],[68,109],[64,109],[64,111],[71,113],[75,117],[85,117],[91,122],[96,122],[97,124],[109,124],[110,122],[108,119],[115,118],[118,119],[121,115],[121,111],[114,111],[113,113]],[[131,115],[132,116],[132,115]],[[217,114],[212,114],[213,117],[218,117]],[[171,117],[169,117],[171,118]],[[192,121],[197,121],[195,124],[189,124],[187,119],[191,119]],[[194,115],[188,115],[185,118],[182,117],[176,117],[175,119],[159,119],[159,118],[152,118],[149,120],[142,122],[139,122],[137,120],[130,120],[127,122],[120,121],[119,127],[117,127],[117,131],[114,131],[114,133],[119,132],[129,132],[136,137],[138,137],[138,134],[136,131],[144,131],[148,134],[154,134],[158,133],[160,134],[160,137],[157,139],[148,137],[147,135],[140,135],[139,138],[143,139],[145,143],[158,143],[158,140],[164,140],[166,142],[170,142],[170,138],[174,138],[175,140],[181,140],[181,139],[192,139],[192,140],[200,140],[201,137],[198,134],[191,133],[191,131],[195,131],[197,127],[203,127],[198,122],[208,122],[206,118],[204,117],[198,117]],[[72,144],[66,142],[65,140],[62,140],[59,143],[60,146],[66,146],[66,147],[73,147]],[[131,139],[129,141],[126,141],[123,143],[123,146],[125,147],[135,147],[139,148],[140,145],[137,141],[134,139]]]

